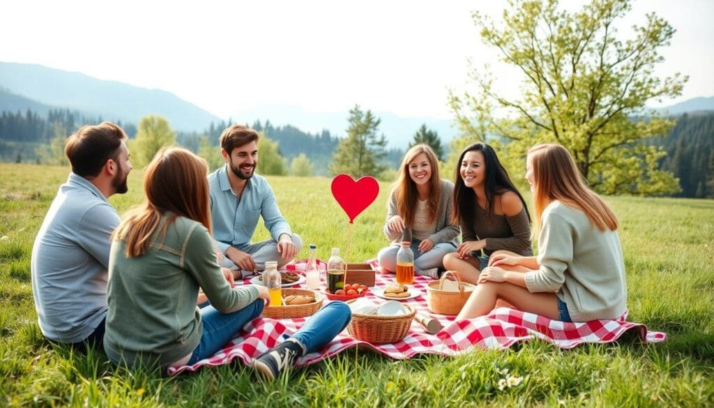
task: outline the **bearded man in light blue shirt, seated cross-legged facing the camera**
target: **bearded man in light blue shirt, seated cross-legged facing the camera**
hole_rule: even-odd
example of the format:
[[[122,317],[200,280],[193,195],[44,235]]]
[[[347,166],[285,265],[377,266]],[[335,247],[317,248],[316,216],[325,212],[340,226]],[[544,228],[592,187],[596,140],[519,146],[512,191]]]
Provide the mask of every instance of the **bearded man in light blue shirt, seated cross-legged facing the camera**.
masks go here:
[[[208,175],[213,237],[223,252],[221,266],[241,271],[236,278],[262,271],[267,261],[282,267],[303,247],[280,213],[270,184],[255,174],[259,137],[247,126],[228,127],[221,134],[226,165]],[[251,244],[260,216],[273,239]]]

